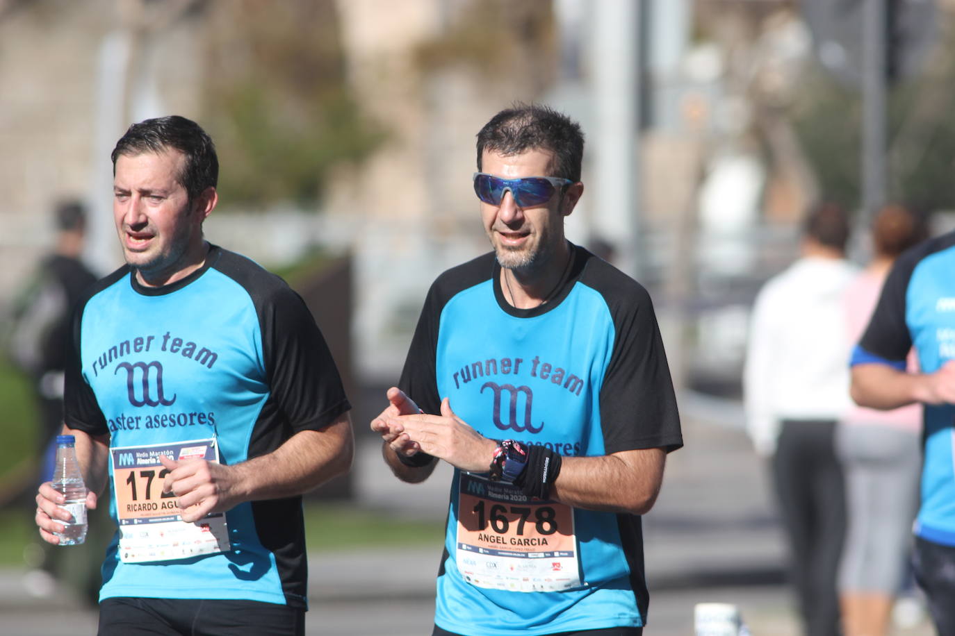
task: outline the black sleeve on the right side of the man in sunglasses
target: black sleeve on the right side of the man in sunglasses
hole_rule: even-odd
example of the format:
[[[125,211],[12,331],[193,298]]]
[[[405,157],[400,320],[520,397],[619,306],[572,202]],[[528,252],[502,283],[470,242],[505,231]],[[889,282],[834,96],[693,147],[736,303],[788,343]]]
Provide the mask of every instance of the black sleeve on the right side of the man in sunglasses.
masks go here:
[[[600,392],[605,452],[676,450],[680,416],[653,304],[639,285],[615,297],[613,354]]]

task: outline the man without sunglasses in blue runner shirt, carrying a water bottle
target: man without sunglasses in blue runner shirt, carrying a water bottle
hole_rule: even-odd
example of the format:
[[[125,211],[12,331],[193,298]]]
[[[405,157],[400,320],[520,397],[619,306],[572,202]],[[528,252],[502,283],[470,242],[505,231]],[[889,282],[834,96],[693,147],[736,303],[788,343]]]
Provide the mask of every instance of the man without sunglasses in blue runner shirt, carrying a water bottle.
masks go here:
[[[300,636],[302,494],[347,471],[353,448],[329,348],[285,281],[205,240],[219,160],[196,122],[134,124],[112,159],[126,264],[75,314],[63,427],[87,505],[108,488],[119,525],[99,633]],[[48,543],[64,501],[40,485]]]

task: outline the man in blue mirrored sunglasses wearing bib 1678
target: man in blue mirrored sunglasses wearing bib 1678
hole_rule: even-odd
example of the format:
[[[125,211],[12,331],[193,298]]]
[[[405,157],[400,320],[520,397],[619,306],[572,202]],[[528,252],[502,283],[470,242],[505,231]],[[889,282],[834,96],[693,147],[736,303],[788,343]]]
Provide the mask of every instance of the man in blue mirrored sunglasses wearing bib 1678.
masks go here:
[[[494,251],[435,280],[371,422],[405,482],[455,467],[435,636],[642,633],[640,515],[683,445],[647,291],[568,242],[584,136],[541,106],[477,134]]]

